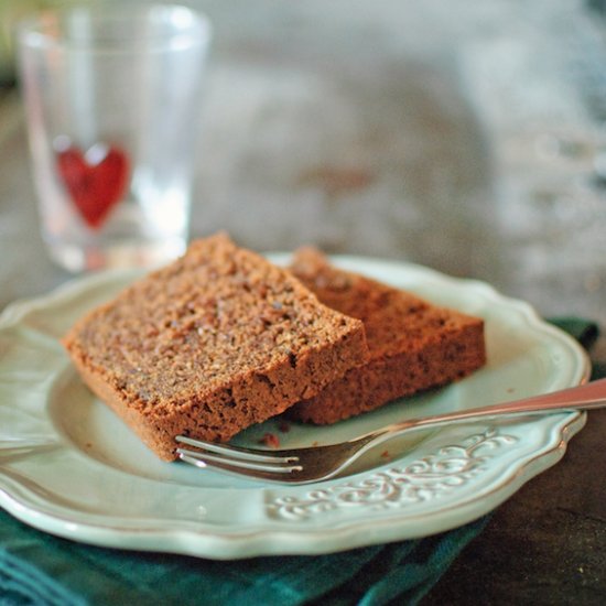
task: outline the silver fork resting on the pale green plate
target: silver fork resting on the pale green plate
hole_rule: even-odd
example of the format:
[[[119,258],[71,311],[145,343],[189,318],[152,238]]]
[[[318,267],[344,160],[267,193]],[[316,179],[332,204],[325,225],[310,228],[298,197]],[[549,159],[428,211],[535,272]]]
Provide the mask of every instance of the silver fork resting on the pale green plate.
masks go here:
[[[290,450],[241,448],[177,435],[178,457],[196,467],[213,467],[248,478],[310,484],[336,476],[364,453],[405,432],[497,416],[522,416],[606,407],[606,379],[512,402],[435,414],[393,423],[347,442]]]

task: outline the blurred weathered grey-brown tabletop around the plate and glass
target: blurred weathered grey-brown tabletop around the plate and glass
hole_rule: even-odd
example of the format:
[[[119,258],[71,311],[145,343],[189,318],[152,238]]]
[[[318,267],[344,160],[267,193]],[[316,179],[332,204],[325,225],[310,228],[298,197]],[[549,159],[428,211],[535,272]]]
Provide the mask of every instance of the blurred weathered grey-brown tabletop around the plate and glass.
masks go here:
[[[414,261],[606,327],[606,30],[583,4],[201,6],[215,42],[193,236]],[[10,87],[0,252],[0,309],[69,278],[37,232]],[[604,604],[605,439],[606,410],[592,412],[424,604]]]

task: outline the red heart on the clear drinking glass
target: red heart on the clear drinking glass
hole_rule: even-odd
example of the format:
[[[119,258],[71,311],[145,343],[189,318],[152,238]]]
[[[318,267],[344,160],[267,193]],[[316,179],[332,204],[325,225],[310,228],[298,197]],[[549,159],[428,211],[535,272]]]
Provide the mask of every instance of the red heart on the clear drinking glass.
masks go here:
[[[72,201],[89,227],[98,229],[121,199],[129,177],[127,154],[97,143],[86,153],[75,145],[57,151],[58,172]]]

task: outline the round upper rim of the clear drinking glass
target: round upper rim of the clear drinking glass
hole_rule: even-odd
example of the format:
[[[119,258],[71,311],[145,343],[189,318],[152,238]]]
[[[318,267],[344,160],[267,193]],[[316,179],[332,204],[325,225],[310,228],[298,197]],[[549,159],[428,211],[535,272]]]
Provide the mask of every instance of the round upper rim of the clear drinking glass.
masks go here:
[[[169,19],[169,15],[171,19]],[[82,21],[83,24],[105,23],[121,24],[126,32],[121,35],[74,35],[68,24]],[[172,30],[163,33],[142,33],[134,24],[139,23],[170,23]],[[132,26],[131,26],[132,25]],[[111,30],[107,30],[111,31]],[[133,33],[128,37],[126,34]],[[186,4],[178,3],[141,3],[132,2],[120,6],[96,4],[89,7],[56,8],[40,11],[23,19],[15,28],[17,40],[20,46],[45,50],[71,50],[90,53],[132,53],[133,42],[154,43],[154,48],[164,50],[174,47],[175,41],[183,45],[207,45],[212,34],[212,26],[207,15]],[[125,44],[127,43],[128,44]]]

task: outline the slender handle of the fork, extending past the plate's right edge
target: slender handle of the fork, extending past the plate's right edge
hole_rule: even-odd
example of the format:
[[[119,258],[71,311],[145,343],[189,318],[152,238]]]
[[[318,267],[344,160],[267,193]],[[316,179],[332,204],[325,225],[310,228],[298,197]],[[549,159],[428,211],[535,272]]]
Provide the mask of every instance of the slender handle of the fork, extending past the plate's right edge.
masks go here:
[[[431,416],[420,416],[387,425],[376,434],[392,435],[404,430],[440,426],[461,421],[475,421],[490,416],[522,416],[541,412],[569,412],[606,407],[606,379],[522,400],[502,402],[481,408],[466,409]]]

